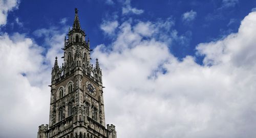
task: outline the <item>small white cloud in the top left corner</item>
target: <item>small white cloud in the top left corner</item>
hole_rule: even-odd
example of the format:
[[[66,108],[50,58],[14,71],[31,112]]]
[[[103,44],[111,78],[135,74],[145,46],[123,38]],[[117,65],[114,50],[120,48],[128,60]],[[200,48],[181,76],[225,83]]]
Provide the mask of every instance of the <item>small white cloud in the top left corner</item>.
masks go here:
[[[0,1],[0,26],[6,24],[8,12],[18,8],[18,4],[18,0]]]

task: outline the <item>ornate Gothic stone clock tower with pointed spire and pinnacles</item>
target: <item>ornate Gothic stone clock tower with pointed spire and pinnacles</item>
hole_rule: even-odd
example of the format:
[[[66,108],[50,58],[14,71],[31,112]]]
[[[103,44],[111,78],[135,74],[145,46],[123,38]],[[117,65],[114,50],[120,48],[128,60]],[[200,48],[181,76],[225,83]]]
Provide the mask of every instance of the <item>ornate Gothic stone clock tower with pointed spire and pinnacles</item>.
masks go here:
[[[81,30],[78,10],[68,39],[65,37],[64,63],[52,68],[50,118],[39,126],[37,138],[116,138],[114,125],[105,128],[102,73],[98,59],[90,60],[90,40]]]

